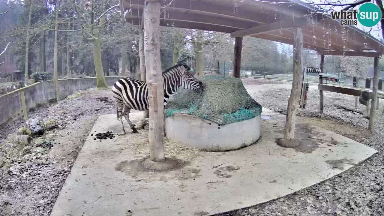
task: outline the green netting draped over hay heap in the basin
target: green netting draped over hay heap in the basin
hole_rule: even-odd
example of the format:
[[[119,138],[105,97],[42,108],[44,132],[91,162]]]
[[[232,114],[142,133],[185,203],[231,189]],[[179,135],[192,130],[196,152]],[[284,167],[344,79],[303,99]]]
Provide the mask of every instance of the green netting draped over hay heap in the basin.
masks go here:
[[[177,90],[164,110],[166,117],[185,113],[227,125],[255,118],[262,112],[262,106],[248,94],[240,79],[220,76],[196,78],[204,83],[204,90]]]

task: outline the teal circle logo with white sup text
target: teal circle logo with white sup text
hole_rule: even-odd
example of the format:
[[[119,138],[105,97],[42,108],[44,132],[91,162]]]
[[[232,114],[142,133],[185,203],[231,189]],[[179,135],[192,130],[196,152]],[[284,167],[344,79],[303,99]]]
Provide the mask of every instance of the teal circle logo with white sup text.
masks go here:
[[[362,4],[358,13],[358,20],[365,27],[375,26],[381,19],[381,10],[374,3]]]

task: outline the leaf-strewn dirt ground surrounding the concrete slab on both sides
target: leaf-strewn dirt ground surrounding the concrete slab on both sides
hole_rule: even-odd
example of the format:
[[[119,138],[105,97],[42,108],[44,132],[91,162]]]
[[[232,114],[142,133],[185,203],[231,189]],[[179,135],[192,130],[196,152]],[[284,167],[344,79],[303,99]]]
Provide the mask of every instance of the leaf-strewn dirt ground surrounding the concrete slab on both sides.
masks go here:
[[[243,83],[255,100],[263,107],[286,112],[292,83],[275,80],[244,79]],[[100,101],[98,98],[103,98]],[[379,151],[368,160],[348,171],[306,188],[290,196],[251,208],[240,209],[218,216],[325,216],[381,215],[383,199],[383,115],[384,101],[376,114],[375,132],[367,130],[368,120],[361,114],[337,109],[338,103],[354,108],[354,97],[337,93],[324,93],[324,114],[318,112],[319,93],[311,85],[306,109],[298,109],[298,123],[316,125],[371,146]],[[365,107],[359,105],[358,110]],[[89,89],[66,98],[59,103],[46,105],[28,113],[45,120],[57,119],[61,128],[50,131],[39,140],[53,146],[13,158],[12,165],[0,176],[0,215],[50,215],[66,176],[76,160],[98,115],[115,113],[110,90]],[[116,119],[117,121],[117,119]],[[0,129],[0,142],[7,145],[7,137],[23,126],[23,119]],[[1,146],[1,145],[0,145]],[[2,152],[5,158],[6,152]],[[1,158],[0,158],[1,159]]]

